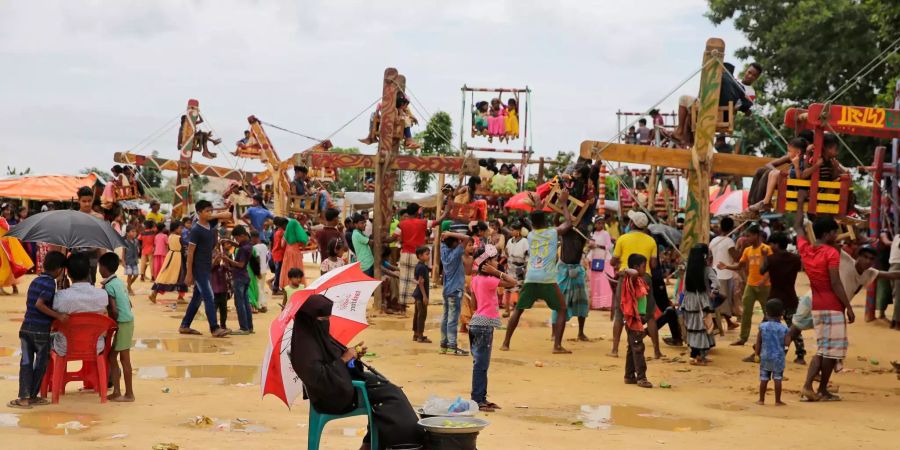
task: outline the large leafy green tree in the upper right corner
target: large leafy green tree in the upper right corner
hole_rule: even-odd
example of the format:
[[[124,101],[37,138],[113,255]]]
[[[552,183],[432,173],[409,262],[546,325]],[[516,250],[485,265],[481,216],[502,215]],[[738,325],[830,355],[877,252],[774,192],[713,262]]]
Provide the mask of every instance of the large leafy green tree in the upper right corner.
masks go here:
[[[789,106],[825,102],[833,94],[837,95],[835,104],[890,104],[900,55],[888,52],[883,65],[858,77],[857,73],[897,39],[900,2],[708,1],[706,16],[713,23],[733,19],[735,28],[749,41],[735,55],[763,66],[763,76],[755,85],[757,103],[763,107],[757,114],[765,115],[783,135],[794,133],[780,125]],[[845,92],[836,94],[844,87]],[[766,138],[764,129],[771,125],[762,117],[740,117],[736,125],[744,134],[743,153],[757,148],[766,155],[780,154]],[[848,136],[845,140],[863,162],[872,162],[874,139]],[[843,148],[839,159],[848,166],[859,165]]]

